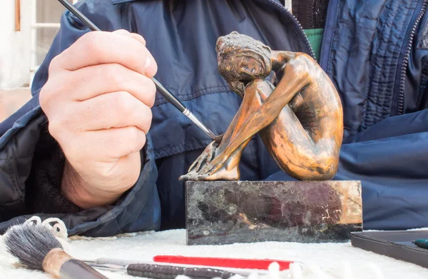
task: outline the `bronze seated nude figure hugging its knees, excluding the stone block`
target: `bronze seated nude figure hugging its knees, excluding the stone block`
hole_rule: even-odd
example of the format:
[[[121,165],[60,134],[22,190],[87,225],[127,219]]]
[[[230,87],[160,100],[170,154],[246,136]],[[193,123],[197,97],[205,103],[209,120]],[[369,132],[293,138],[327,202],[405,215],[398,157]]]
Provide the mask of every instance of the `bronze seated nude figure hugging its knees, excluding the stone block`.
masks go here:
[[[239,180],[240,156],[256,133],[293,178],[326,181],[335,176],[342,103],[317,62],[307,54],[273,51],[235,31],[220,37],[215,50],[220,73],[243,101],[220,143],[210,143],[179,179]],[[272,71],[276,86],[266,79]]]

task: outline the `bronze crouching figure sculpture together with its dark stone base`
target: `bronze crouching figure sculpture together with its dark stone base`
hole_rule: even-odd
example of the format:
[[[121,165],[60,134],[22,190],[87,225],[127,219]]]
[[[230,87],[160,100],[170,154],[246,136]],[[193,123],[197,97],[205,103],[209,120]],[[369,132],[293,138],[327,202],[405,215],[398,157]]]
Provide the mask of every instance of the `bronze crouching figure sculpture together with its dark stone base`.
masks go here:
[[[360,181],[330,181],[343,113],[327,74],[307,54],[272,51],[237,32],[220,37],[215,50],[218,70],[243,101],[220,143],[180,177],[187,181],[188,245],[337,242],[362,230]],[[256,133],[282,171],[300,181],[239,181],[240,156]]]

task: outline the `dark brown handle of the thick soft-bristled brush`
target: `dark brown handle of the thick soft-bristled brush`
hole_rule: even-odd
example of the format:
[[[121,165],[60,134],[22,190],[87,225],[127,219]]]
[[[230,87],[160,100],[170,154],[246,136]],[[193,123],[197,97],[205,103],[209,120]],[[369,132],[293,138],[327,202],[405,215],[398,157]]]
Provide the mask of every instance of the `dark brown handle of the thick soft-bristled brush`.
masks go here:
[[[67,260],[59,270],[61,279],[108,279],[81,260]]]

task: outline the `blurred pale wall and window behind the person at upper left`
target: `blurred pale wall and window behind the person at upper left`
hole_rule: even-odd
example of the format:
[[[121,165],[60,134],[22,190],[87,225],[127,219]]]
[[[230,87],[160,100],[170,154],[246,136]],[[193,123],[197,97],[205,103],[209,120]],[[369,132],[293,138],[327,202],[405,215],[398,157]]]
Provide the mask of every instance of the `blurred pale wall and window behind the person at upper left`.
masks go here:
[[[55,0],[1,0],[0,122],[31,98],[32,78],[65,10]]]

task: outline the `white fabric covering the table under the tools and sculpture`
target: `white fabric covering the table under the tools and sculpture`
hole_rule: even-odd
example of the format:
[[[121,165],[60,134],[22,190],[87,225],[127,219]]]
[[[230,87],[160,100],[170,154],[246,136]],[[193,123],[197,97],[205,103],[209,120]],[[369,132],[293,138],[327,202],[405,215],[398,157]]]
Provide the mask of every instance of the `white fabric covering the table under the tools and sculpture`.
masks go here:
[[[1,243],[0,243],[1,245]],[[297,260],[305,264],[297,278],[428,278],[428,269],[412,263],[352,247],[350,243],[240,243],[233,245],[188,246],[185,230],[134,233],[114,238],[72,237],[66,251],[80,259],[119,258],[123,260],[151,260],[153,255],[188,255],[228,258],[272,258]],[[0,278],[51,278],[46,273],[14,268],[10,257],[0,253]],[[108,278],[136,278],[123,273],[101,271]],[[291,278],[274,273],[270,278]]]

